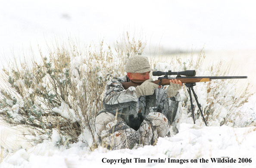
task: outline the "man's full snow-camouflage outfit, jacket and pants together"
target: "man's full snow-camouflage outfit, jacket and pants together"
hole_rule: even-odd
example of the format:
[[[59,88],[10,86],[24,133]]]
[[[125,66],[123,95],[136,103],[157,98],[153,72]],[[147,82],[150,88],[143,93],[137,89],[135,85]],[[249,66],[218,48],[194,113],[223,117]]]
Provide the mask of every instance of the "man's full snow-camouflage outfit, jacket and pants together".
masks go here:
[[[106,85],[105,109],[97,114],[95,123],[100,145],[123,149],[132,148],[134,144],[155,144],[157,137],[169,133],[169,124],[175,120],[178,110],[179,93],[169,98],[166,95],[169,86],[164,86],[163,89],[155,89],[153,95],[137,98],[136,88],[131,86],[125,90],[122,82],[128,82],[128,76],[112,79]],[[129,116],[136,118],[138,113],[144,120],[135,131],[134,127],[131,128]],[[155,118],[155,114],[159,116]]]

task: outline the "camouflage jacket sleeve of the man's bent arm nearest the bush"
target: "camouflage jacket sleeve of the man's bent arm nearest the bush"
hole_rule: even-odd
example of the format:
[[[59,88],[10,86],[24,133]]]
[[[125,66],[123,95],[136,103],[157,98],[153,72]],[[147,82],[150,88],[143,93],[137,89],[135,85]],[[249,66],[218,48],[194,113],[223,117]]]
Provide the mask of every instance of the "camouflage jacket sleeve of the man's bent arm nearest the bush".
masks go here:
[[[118,79],[112,79],[105,88],[103,104],[106,110],[116,111],[122,110],[137,102],[138,98],[135,93],[135,87],[124,89],[122,83]]]

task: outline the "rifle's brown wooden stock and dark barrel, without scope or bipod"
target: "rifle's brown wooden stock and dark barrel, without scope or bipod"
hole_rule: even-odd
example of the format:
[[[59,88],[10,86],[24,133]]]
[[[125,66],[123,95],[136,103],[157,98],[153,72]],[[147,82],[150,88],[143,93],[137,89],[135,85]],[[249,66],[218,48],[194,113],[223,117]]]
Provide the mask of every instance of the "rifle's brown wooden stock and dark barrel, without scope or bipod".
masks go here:
[[[243,79],[247,78],[247,76],[184,76],[184,77],[159,77],[158,80],[153,81],[153,83],[164,86],[170,85],[170,79],[177,79],[180,80],[181,83],[196,83],[196,82],[209,82],[212,79]],[[128,89],[131,86],[139,86],[144,81],[138,82],[122,82],[122,86],[124,89]]]

